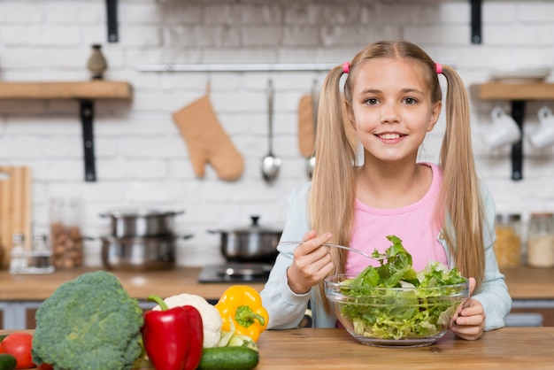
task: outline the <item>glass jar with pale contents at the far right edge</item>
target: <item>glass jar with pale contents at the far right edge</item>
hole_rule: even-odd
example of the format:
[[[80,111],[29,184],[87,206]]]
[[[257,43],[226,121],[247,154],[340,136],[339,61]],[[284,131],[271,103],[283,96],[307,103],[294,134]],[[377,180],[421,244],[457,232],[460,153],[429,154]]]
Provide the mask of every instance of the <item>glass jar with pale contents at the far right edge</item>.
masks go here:
[[[531,213],[527,235],[527,264],[554,267],[554,214]]]

